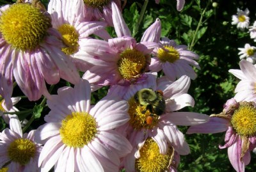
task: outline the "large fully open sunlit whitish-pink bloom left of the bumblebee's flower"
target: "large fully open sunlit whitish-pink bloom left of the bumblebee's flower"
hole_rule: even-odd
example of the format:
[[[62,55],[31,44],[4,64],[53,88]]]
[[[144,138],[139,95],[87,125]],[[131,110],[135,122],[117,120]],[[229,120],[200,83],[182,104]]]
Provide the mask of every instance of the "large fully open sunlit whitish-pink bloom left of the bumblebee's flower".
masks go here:
[[[47,123],[36,130],[36,141],[45,143],[38,160],[42,172],[54,165],[56,172],[118,171],[120,157],[132,150],[113,130],[129,121],[125,100],[105,97],[91,108],[90,84],[84,80],[60,88],[47,105]]]

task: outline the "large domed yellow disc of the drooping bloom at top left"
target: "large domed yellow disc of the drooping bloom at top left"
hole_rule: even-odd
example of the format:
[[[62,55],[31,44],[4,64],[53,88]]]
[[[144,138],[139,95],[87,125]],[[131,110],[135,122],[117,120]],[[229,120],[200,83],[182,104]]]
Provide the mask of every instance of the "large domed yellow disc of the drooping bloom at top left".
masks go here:
[[[31,51],[44,40],[51,19],[27,3],[13,4],[0,17],[0,31],[13,48]]]

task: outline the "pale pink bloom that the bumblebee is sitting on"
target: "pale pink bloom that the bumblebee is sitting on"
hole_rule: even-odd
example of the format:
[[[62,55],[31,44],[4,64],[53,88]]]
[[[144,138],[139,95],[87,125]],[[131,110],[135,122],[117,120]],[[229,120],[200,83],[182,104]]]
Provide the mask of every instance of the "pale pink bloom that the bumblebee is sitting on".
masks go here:
[[[124,100],[129,102],[128,113],[131,119],[129,123],[117,130],[127,136],[132,146],[152,137],[159,145],[160,153],[166,154],[167,144],[170,144],[180,155],[187,155],[189,153],[188,143],[176,125],[188,126],[204,123],[209,119],[209,116],[199,113],[174,112],[186,106],[194,106],[193,98],[187,94],[190,85],[188,76],[184,75],[175,82],[166,79],[166,77],[156,81],[156,77],[156,73],[148,74],[147,80],[141,84],[134,84],[129,88],[115,86],[109,90],[110,95],[122,96]],[[142,105],[140,95],[136,95],[138,91],[145,88],[152,89],[152,92],[159,91],[157,92],[157,100],[152,100],[154,106],[157,107],[153,107],[151,110],[150,106]],[[123,95],[122,92],[124,92]],[[144,90],[141,96],[143,94],[148,95],[149,92]],[[163,92],[163,96],[161,92]],[[163,114],[157,115],[155,113],[156,108],[161,108]]]

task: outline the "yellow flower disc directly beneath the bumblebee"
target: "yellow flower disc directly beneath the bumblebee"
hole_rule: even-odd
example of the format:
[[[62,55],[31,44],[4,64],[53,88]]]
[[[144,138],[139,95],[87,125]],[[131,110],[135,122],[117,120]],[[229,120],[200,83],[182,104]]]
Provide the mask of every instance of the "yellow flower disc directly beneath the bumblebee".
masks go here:
[[[147,117],[150,116],[150,111],[145,106],[138,104],[134,97],[129,100],[128,110],[130,120],[129,123],[134,129],[152,129],[158,123],[158,116],[155,114],[153,117],[152,124],[147,124]]]

